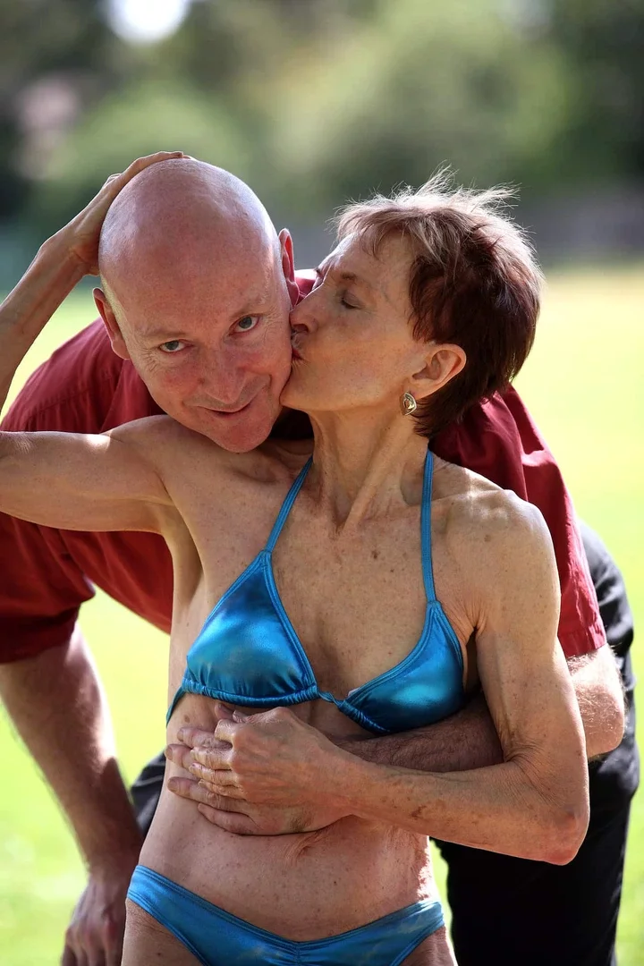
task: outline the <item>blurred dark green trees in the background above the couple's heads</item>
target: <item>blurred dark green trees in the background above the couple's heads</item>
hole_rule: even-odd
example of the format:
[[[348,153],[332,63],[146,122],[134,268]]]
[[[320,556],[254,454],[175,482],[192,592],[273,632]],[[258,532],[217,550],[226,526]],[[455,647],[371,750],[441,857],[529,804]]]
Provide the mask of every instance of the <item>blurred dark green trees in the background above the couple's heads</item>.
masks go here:
[[[103,12],[0,14],[0,219],[39,237],[158,148],[307,221],[445,160],[528,195],[644,180],[644,0],[202,0],[154,46]]]

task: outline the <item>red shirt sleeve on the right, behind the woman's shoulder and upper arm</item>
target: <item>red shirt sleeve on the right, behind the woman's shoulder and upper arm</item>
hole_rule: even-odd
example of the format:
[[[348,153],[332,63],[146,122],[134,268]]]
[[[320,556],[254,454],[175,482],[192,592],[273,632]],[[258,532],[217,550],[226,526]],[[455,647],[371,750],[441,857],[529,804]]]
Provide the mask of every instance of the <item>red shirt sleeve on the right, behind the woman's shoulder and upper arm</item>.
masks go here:
[[[566,657],[588,654],[606,642],[571,496],[561,472],[518,392],[473,406],[461,423],[434,440],[444,460],[472,469],[514,492],[544,515],[561,584],[559,641]]]

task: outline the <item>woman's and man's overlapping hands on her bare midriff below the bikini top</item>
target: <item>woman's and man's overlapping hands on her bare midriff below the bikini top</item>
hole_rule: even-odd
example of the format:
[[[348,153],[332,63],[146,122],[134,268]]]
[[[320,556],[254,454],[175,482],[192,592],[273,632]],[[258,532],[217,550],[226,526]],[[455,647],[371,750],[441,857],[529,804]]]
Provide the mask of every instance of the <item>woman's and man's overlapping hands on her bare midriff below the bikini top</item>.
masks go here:
[[[231,831],[251,832],[262,815],[282,831],[309,830],[347,814],[340,795],[340,770],[350,755],[338,749],[317,728],[300,721],[287,708],[246,716],[217,702],[219,721],[213,733],[184,727],[182,745],[166,755],[199,781],[200,790],[172,778],[168,787],[183,797],[225,815],[205,812]],[[258,808],[259,807],[259,808]],[[273,809],[272,815],[266,809]],[[200,808],[200,810],[202,810]],[[245,815],[249,821],[231,818]],[[286,828],[284,828],[286,825]],[[261,834],[256,832],[255,834]],[[272,832],[267,834],[279,834]]]

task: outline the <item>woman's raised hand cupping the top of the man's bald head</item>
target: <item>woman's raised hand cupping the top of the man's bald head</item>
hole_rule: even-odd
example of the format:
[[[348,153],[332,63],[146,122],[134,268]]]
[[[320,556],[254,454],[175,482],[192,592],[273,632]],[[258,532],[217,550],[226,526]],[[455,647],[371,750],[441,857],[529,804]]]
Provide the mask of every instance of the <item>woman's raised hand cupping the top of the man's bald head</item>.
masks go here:
[[[77,258],[88,275],[98,275],[98,239],[107,211],[132,178],[158,161],[185,157],[181,151],[157,151],[154,155],[137,157],[122,174],[110,175],[92,201],[57,233],[58,241],[65,241],[70,255]]]

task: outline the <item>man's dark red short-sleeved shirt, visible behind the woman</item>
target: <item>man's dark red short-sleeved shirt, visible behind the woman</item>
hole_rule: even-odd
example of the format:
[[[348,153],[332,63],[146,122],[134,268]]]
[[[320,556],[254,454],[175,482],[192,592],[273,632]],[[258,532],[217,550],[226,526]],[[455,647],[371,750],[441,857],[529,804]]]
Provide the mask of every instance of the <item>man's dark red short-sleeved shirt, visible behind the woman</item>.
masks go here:
[[[2,429],[102,433],[159,412],[131,362],[112,352],[98,321],[37,369]],[[572,657],[601,647],[597,596],[571,498],[515,390],[474,406],[434,440],[434,451],[540,508],[557,556],[563,649]],[[170,629],[172,563],[155,534],[56,530],[0,514],[0,560],[0,662],[65,643],[94,583],[156,627]]]

